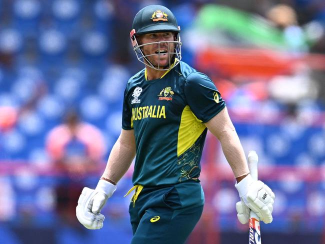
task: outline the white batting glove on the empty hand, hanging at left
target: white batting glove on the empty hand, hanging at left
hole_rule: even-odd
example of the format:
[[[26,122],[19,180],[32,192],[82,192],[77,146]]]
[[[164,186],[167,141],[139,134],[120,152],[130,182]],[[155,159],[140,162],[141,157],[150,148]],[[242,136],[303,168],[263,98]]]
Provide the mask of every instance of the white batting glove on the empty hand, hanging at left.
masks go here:
[[[84,227],[100,229],[103,226],[105,217],[100,210],[115,190],[115,185],[103,179],[99,179],[95,189],[88,187],[82,189],[75,212]]]

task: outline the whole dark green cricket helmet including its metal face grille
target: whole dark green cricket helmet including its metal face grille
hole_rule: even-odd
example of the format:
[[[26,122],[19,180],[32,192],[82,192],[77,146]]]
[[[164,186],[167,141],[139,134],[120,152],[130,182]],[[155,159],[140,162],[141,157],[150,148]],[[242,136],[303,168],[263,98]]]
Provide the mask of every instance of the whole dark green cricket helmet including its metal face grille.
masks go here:
[[[176,66],[181,59],[181,42],[179,36],[180,28],[177,25],[177,20],[174,14],[165,6],[162,5],[148,5],[141,10],[139,10],[132,23],[132,30],[130,32],[130,38],[133,46],[133,50],[136,53],[137,59],[143,62],[145,65],[150,66],[157,70],[167,70],[170,66]],[[173,32],[174,40],[173,41],[156,41],[141,44],[137,41],[137,36],[146,33],[156,33],[156,32]],[[155,67],[149,60],[148,56],[158,55],[159,53],[144,55],[142,48],[144,45],[149,44],[158,44],[158,49],[160,43],[172,42],[174,48],[171,50],[168,49],[169,53],[169,65],[160,67],[159,62],[158,66]],[[169,48],[169,45],[168,45]],[[160,56],[159,56],[160,58]]]

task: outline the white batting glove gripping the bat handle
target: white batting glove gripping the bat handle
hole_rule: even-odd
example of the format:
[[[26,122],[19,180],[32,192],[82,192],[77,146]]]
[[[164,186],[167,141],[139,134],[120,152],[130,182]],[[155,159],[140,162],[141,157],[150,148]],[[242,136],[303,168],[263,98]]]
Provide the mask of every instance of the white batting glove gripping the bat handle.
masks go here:
[[[246,177],[235,184],[235,187],[239,192],[239,197],[242,204],[253,210],[259,217],[259,220],[265,223],[272,222],[272,211],[275,195],[266,184],[260,180],[254,180],[250,174],[247,174]],[[240,216],[241,219],[238,219],[240,222],[245,222],[245,217],[249,217],[249,213],[246,214],[246,209],[240,209],[240,206],[238,207],[240,214],[242,214]]]

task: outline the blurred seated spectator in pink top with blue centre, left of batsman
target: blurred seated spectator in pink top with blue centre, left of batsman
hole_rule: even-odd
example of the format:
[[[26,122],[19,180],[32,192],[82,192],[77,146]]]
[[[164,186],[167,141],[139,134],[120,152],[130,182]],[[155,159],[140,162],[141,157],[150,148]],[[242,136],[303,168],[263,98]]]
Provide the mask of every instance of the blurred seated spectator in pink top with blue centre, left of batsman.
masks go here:
[[[49,131],[46,150],[62,175],[56,187],[57,213],[65,223],[74,225],[83,180],[97,169],[105,153],[104,138],[99,129],[81,122],[75,111],[69,111],[64,123]]]

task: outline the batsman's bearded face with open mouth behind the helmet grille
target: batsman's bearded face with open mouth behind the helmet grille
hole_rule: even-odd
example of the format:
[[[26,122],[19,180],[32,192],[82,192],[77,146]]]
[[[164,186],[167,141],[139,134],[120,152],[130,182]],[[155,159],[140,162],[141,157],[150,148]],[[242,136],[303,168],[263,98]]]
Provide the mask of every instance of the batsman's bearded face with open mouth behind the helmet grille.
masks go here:
[[[174,52],[175,44],[174,42],[166,42],[174,41],[174,35],[172,32],[142,34],[139,36],[139,40],[139,44],[162,41],[159,44],[152,43],[141,47],[143,55],[156,54],[146,57],[154,67],[158,68],[159,66],[161,68],[169,66],[169,59],[171,63],[173,62],[173,60],[171,60],[173,53],[170,54],[168,52]]]

